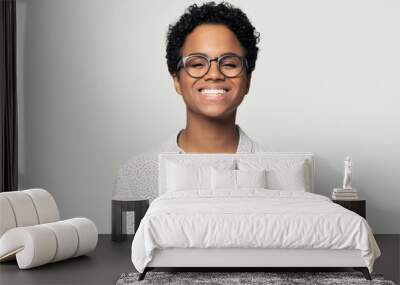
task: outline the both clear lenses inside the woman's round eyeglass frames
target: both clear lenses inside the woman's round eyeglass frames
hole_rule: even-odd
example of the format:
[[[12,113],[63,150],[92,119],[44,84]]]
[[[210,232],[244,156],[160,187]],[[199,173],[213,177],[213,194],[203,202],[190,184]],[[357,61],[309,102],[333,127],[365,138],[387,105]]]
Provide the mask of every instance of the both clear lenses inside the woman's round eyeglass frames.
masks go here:
[[[184,68],[192,77],[203,77],[209,70],[210,61],[203,56],[187,58]],[[225,56],[220,58],[219,71],[226,77],[235,77],[242,71],[242,60],[238,56]]]

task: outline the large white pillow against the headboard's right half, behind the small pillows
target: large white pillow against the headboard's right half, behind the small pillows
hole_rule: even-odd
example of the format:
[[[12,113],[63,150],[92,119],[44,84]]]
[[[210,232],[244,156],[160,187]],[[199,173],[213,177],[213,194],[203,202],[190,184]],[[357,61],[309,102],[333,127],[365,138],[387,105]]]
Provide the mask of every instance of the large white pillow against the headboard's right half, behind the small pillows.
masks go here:
[[[273,190],[311,191],[307,161],[298,159],[242,159],[241,170],[267,170],[267,188]]]

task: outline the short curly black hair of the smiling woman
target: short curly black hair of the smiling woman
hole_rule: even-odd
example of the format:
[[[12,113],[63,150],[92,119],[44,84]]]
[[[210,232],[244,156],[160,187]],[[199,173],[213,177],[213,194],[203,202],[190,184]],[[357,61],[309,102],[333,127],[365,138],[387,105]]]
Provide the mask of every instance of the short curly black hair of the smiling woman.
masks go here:
[[[169,73],[177,74],[177,65],[185,39],[201,24],[223,24],[236,35],[245,50],[248,64],[246,73],[251,75],[256,65],[260,33],[255,30],[242,10],[227,2],[221,2],[218,5],[215,2],[207,2],[201,6],[193,4],[185,10],[175,24],[169,25],[166,48]]]

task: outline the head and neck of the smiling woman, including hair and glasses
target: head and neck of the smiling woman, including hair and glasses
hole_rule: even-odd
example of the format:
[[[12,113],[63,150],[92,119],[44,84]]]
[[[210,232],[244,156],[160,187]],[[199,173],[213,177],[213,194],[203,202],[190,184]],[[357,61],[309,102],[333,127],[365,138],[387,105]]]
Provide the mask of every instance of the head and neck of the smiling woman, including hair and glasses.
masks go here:
[[[178,145],[186,153],[237,151],[236,111],[249,92],[258,41],[247,16],[228,3],[192,5],[169,27],[168,69],[186,104]]]

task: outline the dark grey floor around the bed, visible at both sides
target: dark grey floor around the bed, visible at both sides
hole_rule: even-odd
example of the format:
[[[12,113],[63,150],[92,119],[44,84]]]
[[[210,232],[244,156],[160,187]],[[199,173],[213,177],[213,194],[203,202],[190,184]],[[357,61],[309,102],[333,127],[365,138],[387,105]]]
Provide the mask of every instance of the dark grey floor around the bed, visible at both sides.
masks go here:
[[[375,236],[382,256],[374,272],[399,283],[400,235]],[[0,284],[115,284],[124,272],[134,271],[130,259],[132,239],[121,243],[110,235],[100,235],[95,251],[87,256],[19,270],[15,261],[0,264]]]

